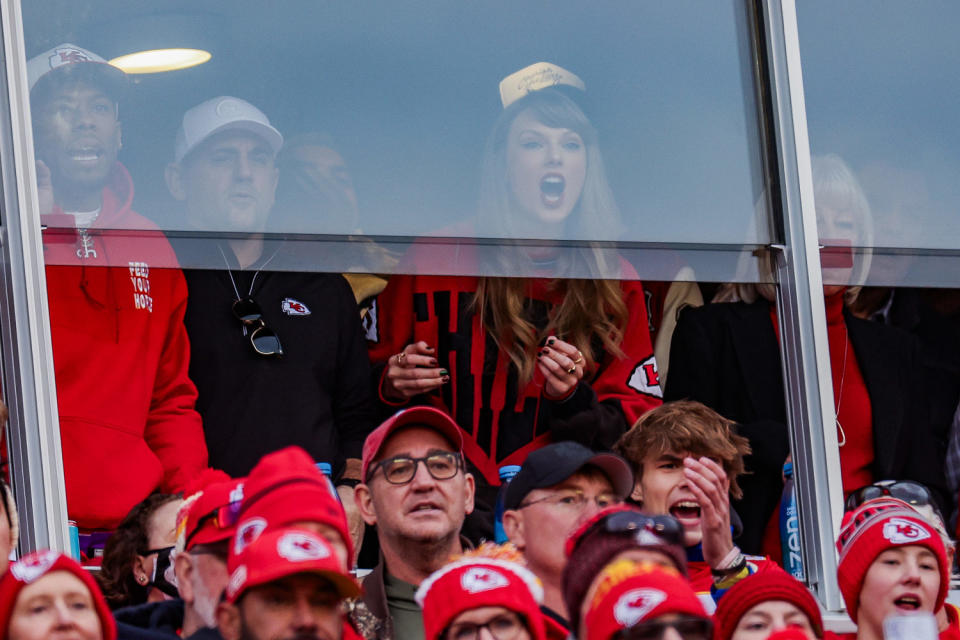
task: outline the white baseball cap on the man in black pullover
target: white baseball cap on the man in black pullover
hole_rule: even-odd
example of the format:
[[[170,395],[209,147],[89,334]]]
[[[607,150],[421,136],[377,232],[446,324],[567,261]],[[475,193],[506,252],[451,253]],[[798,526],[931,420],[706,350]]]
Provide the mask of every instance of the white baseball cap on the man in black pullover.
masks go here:
[[[283,136],[255,106],[231,96],[220,96],[201,102],[183,114],[173,147],[173,159],[180,162],[210,136],[221,131],[249,131],[260,136],[274,153],[283,146]]]

